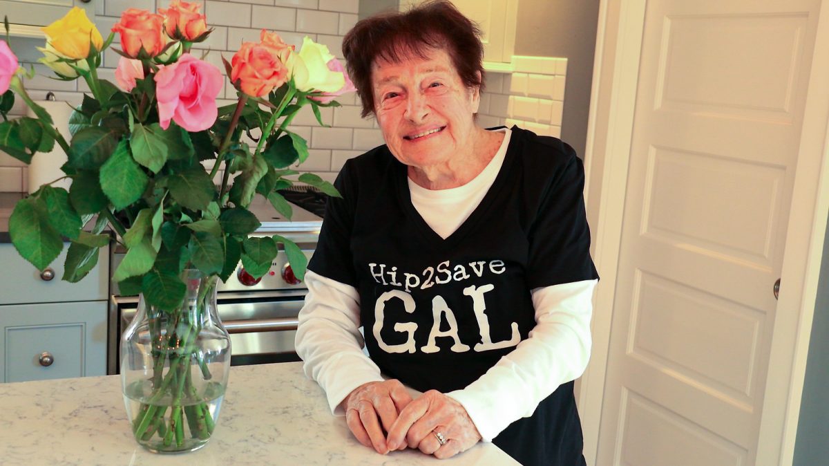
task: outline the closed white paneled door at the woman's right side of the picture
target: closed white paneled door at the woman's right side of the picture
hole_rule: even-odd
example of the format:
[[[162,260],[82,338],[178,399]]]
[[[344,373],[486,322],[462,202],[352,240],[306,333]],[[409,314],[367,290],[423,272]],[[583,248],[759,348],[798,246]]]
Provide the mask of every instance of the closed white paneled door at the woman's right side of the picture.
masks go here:
[[[773,284],[820,7],[647,1],[596,464],[777,463]]]

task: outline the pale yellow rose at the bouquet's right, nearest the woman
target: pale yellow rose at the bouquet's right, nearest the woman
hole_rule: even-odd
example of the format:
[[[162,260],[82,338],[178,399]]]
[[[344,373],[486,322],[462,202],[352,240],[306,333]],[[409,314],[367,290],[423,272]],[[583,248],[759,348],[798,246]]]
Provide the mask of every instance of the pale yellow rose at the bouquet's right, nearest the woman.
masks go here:
[[[328,62],[334,59],[327,46],[318,44],[305,36],[302,50],[299,53],[290,54],[286,65],[293,77],[293,84],[298,90],[335,92],[342,89],[346,80],[342,72],[328,69]]]

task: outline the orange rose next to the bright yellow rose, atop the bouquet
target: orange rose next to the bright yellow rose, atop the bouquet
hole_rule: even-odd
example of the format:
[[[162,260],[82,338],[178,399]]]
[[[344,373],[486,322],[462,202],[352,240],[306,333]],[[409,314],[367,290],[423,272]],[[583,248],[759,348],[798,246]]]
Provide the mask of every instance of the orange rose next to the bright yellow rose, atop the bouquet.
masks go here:
[[[167,45],[164,17],[138,8],[124,11],[112,32],[121,35],[121,47],[131,58],[152,58]]]

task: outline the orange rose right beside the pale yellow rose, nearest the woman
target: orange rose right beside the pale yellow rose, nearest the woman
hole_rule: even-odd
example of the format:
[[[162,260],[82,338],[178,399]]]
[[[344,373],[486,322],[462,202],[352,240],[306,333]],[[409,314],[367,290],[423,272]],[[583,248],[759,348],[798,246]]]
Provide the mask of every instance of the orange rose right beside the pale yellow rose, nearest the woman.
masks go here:
[[[261,97],[288,80],[287,60],[292,47],[264,29],[260,42],[243,42],[230,62],[230,82],[247,95]]]

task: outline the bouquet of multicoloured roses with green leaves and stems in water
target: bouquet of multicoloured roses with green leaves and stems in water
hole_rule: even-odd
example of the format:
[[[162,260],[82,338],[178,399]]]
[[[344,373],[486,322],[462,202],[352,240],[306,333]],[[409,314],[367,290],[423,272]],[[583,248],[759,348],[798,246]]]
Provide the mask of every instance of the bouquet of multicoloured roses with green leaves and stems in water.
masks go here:
[[[178,0],[158,13],[129,8],[106,40],[78,7],[43,28],[41,62],[56,79],[81,78],[90,89],[71,114],[70,140],[27,94],[24,81],[33,69],[19,67],[0,41],[0,150],[30,163],[58,144],[68,158],[61,169],[72,181],[68,191],[46,184],[17,202],[9,219],[12,243],[43,270],[68,239],[63,279],[75,282],[109,244],[104,229],[117,233],[127,252],[113,278],[121,294],[142,294],[153,342],[153,374],[142,381],[149,385],[138,396],[133,432],[139,442],[158,436],[157,449],[185,448],[182,425],[194,438],[211,434],[218,409],[199,401],[207,398],[191,365],[211,380],[209,357],[196,354],[196,344],[210,324],[205,301],[211,289],[215,297],[216,279],[228,279],[240,260],[255,278],[264,275],[279,244],[303,278],[303,252],[279,235],[250,236],[260,224],[247,207],[259,194],[289,218],[279,190],[294,182],[338,196],[320,177],[290,168],[308,157],[308,147],[288,125],[308,104],[322,124],[319,107],[336,106],[337,95],[354,90],[326,46],[306,37],[296,51],[263,30],[259,42],[241,44],[230,62],[222,59],[238,100],[218,107],[225,76],[191,52],[211,33],[199,8]],[[114,84],[97,70],[116,33],[121,57]],[[36,118],[7,118],[15,95]],[[206,170],[202,163],[211,159]]]

